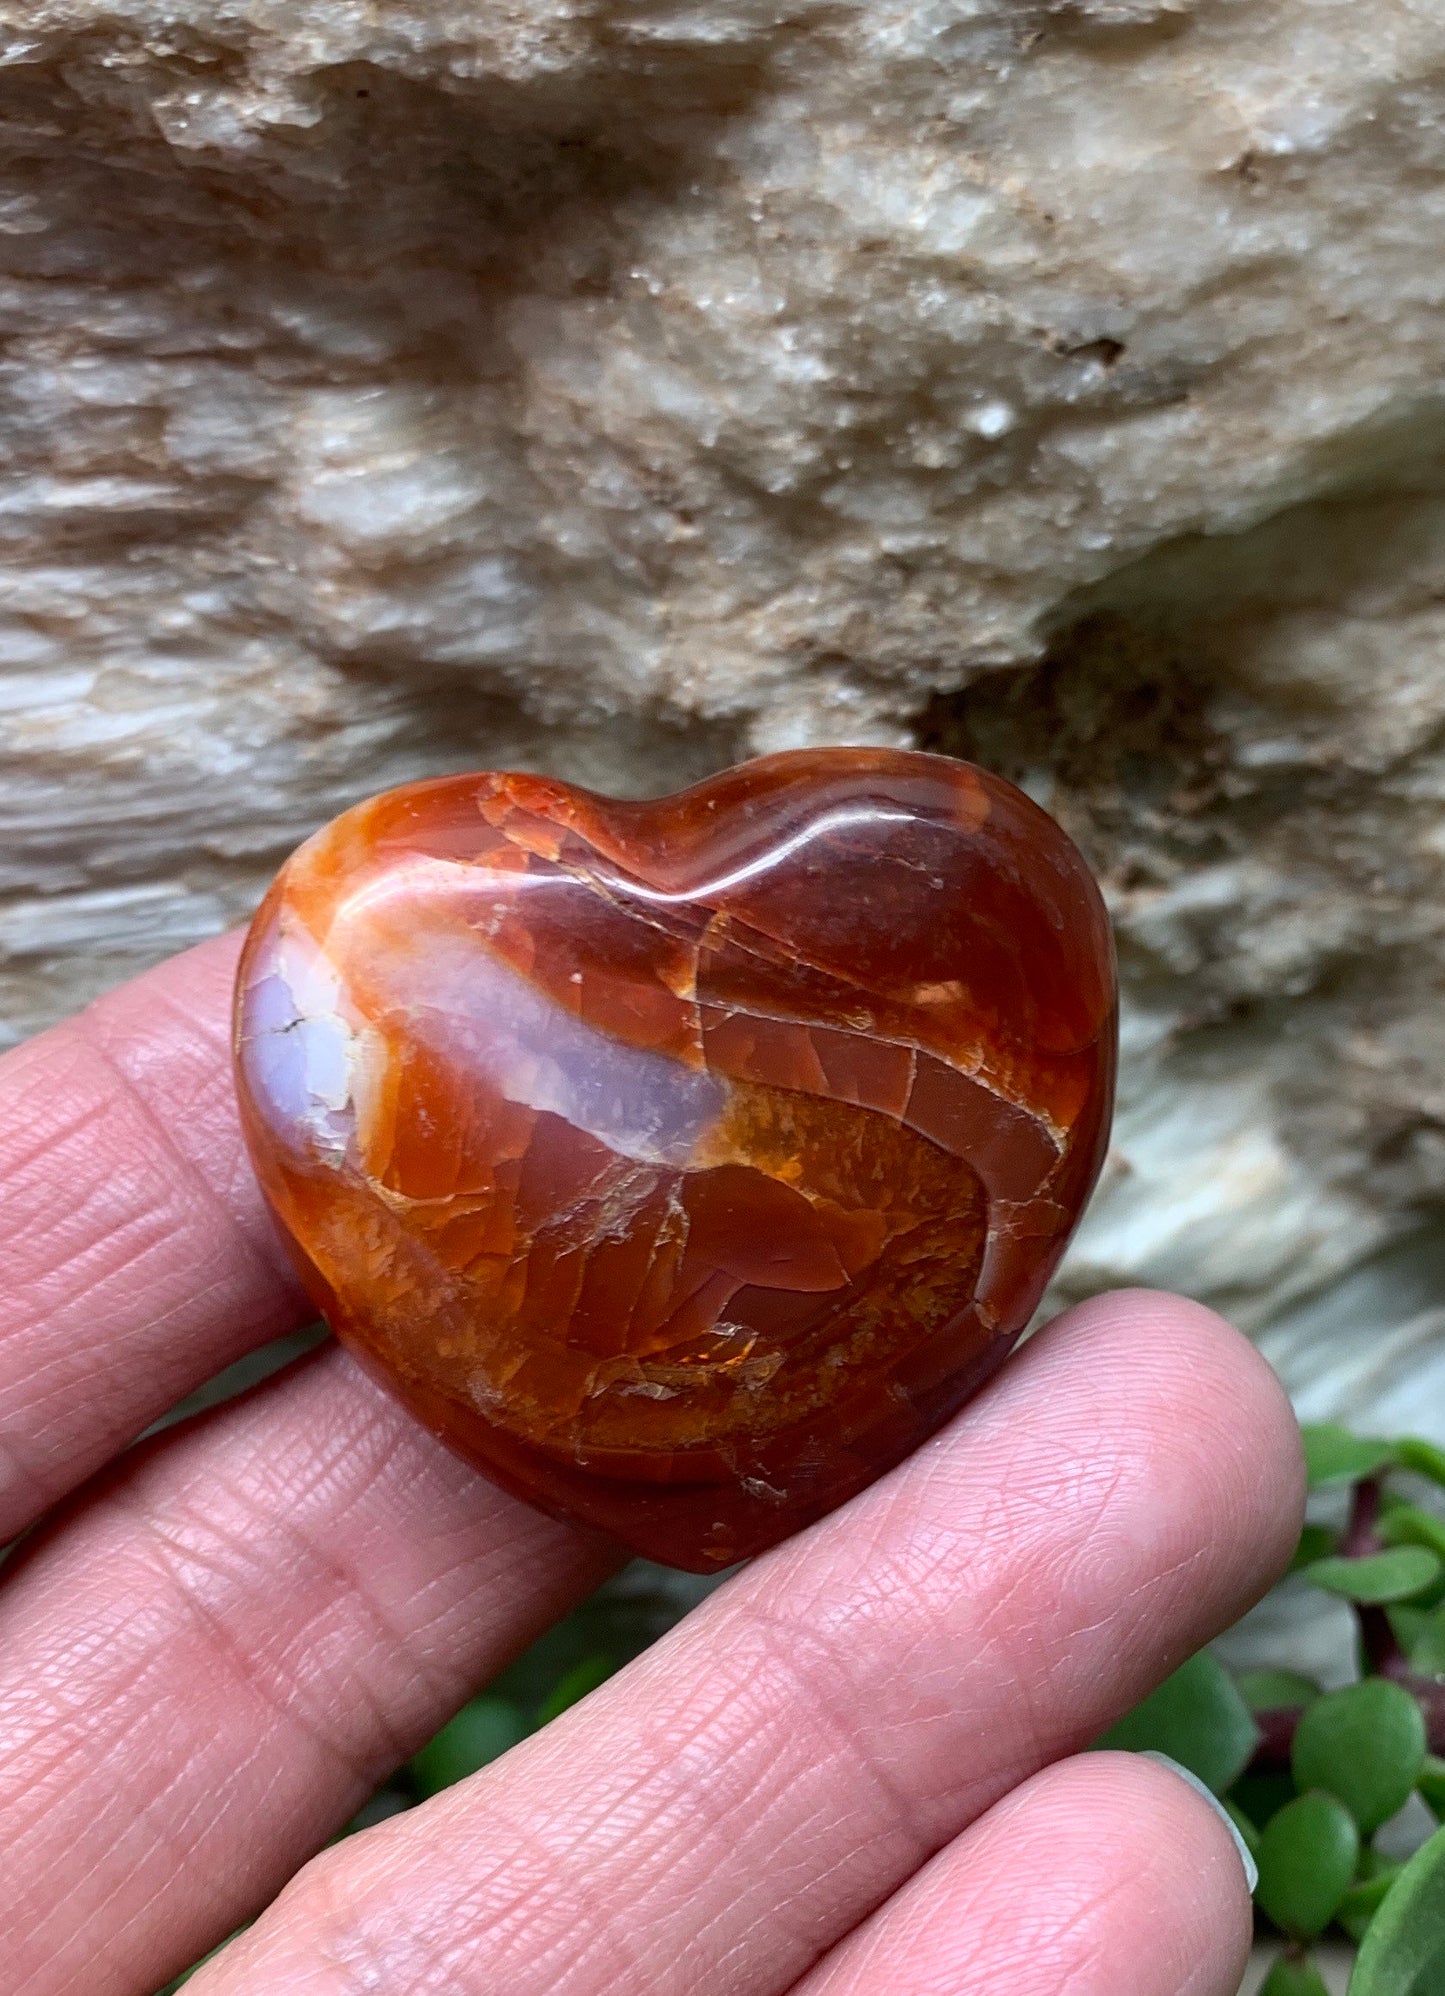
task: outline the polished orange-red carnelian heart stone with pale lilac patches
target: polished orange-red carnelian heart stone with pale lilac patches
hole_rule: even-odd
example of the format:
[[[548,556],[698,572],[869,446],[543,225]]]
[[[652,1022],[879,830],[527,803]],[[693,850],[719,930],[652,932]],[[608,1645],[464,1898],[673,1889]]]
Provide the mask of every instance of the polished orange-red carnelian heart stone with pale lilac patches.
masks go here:
[[[944,756],[415,782],[281,868],[245,1134],[317,1305],[519,1497],[717,1571],[1028,1323],[1114,1094],[1078,850]]]

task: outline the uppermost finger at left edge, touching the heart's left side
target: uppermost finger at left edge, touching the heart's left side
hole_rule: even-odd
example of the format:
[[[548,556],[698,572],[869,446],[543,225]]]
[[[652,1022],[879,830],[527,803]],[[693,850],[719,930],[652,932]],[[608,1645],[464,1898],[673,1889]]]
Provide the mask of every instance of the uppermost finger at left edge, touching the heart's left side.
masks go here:
[[[236,1114],[238,936],[0,1058],[0,1543],[313,1311]]]

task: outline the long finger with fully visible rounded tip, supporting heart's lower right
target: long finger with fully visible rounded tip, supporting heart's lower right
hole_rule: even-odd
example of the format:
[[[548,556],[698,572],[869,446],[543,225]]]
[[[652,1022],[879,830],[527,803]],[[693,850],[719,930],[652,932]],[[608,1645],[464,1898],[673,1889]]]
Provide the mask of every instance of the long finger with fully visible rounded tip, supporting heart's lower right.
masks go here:
[[[1283,1569],[1297,1431],[1209,1311],[1072,1311],[495,1768],[309,1866],[196,1996],[770,1996]]]

